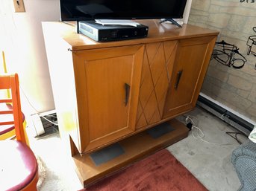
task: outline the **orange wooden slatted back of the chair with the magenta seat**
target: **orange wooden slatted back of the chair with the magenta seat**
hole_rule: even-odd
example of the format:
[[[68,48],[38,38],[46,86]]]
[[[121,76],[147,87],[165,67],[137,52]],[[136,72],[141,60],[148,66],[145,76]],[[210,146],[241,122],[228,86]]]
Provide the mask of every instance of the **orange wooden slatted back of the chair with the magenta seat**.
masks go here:
[[[25,129],[23,128],[23,117],[19,97],[19,77],[18,74],[1,75],[0,76],[0,89],[10,89],[11,97],[4,97],[0,99],[0,104],[11,104],[12,107],[5,107],[0,111],[0,128],[1,126],[13,125],[16,132],[16,140],[27,143]],[[13,120],[7,120],[7,115],[13,114]]]

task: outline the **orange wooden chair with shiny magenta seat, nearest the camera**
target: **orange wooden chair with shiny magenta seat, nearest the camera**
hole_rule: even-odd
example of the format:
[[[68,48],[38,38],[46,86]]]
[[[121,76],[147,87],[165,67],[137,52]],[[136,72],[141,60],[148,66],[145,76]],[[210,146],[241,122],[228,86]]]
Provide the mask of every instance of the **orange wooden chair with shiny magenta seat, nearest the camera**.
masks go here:
[[[37,159],[28,146],[22,124],[18,74],[0,76],[0,89],[11,91],[11,98],[0,99],[0,104],[12,106],[0,111],[0,128],[14,125],[16,133],[16,140],[0,140],[0,190],[37,190]],[[10,115],[13,120],[5,117]]]

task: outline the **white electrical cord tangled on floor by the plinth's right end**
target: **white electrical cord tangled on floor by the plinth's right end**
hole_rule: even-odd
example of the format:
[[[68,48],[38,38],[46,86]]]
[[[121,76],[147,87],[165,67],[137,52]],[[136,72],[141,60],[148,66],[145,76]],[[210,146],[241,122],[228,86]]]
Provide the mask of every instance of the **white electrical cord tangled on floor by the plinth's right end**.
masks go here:
[[[192,115],[184,114],[183,116],[185,117],[185,123],[187,124],[188,128],[191,127],[191,134],[196,140],[199,139],[199,140],[204,141],[205,143],[215,144],[215,145],[219,145],[219,146],[232,145],[231,143],[213,143],[208,140],[205,140],[204,132],[202,132],[202,129],[200,129],[199,126],[196,126],[196,123],[194,121],[196,119],[199,122],[199,120],[195,116],[192,116]],[[192,118],[194,118],[194,120]]]

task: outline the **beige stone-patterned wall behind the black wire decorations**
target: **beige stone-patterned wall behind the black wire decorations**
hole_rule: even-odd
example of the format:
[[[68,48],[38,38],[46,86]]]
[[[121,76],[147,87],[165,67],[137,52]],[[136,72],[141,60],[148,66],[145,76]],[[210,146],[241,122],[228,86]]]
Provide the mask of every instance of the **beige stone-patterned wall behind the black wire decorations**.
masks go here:
[[[202,93],[256,121],[256,56],[247,55],[249,36],[256,36],[255,0],[193,0],[189,24],[219,31],[217,41],[236,45],[247,59],[243,68],[222,65],[215,59],[210,65]],[[255,45],[256,48],[256,45]]]

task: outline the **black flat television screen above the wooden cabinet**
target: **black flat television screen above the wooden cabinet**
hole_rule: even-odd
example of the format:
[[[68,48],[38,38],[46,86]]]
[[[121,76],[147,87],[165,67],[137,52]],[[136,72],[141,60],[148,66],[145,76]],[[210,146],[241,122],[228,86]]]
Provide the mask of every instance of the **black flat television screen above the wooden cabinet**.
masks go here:
[[[186,3],[187,0],[60,0],[60,19],[180,19]]]

